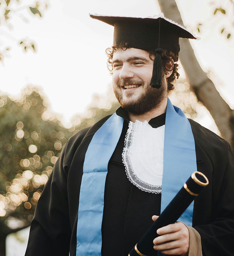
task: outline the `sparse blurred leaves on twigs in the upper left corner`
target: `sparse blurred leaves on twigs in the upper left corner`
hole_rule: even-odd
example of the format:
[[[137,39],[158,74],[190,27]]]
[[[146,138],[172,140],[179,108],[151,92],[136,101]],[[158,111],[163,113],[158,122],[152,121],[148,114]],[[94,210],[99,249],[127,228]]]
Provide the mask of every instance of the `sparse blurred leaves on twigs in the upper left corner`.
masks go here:
[[[1,28],[0,34],[2,34],[5,37],[8,37],[10,35],[9,31],[12,26],[9,24],[14,16],[17,15],[17,17],[19,17],[21,20],[24,21],[25,16],[27,16],[27,13],[25,13],[25,10],[29,10],[28,13],[42,17],[41,11],[44,11],[45,9],[47,9],[47,7],[48,7],[47,1],[44,1],[44,2],[32,1],[30,6],[30,5],[25,5],[25,1],[20,1],[20,0],[0,0],[0,28]],[[5,33],[3,26],[8,30],[7,33]],[[13,39],[14,37],[10,36],[10,38]],[[2,40],[3,38],[0,41],[2,45],[0,49],[0,61],[4,59],[4,57],[7,55],[7,52],[10,50],[10,47],[7,46]],[[30,42],[31,40],[14,38],[14,41],[16,44],[19,44],[25,52],[28,49],[35,51],[35,44]]]

